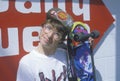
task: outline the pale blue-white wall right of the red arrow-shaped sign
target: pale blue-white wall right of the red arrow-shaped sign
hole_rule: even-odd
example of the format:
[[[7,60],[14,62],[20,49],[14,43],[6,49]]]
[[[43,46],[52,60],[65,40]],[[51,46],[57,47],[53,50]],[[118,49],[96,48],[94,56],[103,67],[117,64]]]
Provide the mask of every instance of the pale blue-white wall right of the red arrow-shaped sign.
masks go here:
[[[96,78],[97,81],[120,81],[120,0],[103,2],[115,18],[115,22],[94,49]]]

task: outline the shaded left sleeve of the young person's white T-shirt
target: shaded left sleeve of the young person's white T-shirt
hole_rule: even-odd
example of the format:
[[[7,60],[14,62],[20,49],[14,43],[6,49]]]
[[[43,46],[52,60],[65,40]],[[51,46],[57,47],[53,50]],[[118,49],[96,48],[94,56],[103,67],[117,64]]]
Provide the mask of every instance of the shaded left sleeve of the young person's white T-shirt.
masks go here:
[[[34,76],[30,67],[20,62],[16,81],[34,81]]]

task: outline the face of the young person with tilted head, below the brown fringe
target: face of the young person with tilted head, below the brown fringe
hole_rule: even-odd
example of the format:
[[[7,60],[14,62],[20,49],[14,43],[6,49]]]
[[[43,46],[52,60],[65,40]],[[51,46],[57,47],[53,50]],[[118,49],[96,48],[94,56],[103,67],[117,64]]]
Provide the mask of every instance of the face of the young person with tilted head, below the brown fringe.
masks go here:
[[[44,47],[55,47],[61,41],[62,34],[50,23],[44,24],[40,33],[40,43]]]

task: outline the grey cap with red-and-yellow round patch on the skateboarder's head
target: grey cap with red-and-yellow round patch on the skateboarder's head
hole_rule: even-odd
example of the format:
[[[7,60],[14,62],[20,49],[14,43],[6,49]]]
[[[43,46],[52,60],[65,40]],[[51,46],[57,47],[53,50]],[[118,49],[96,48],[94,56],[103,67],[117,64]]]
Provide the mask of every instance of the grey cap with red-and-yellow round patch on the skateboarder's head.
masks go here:
[[[68,30],[73,25],[72,17],[60,8],[52,8],[47,12],[47,19],[54,19],[62,23]]]

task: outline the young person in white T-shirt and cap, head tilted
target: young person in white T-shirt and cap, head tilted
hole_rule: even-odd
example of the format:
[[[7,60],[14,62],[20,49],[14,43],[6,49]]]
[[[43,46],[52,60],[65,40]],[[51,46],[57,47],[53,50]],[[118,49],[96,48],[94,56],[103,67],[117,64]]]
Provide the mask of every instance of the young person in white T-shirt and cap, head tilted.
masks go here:
[[[67,81],[67,57],[58,48],[72,26],[72,18],[59,8],[47,12],[36,49],[19,62],[16,81]]]

